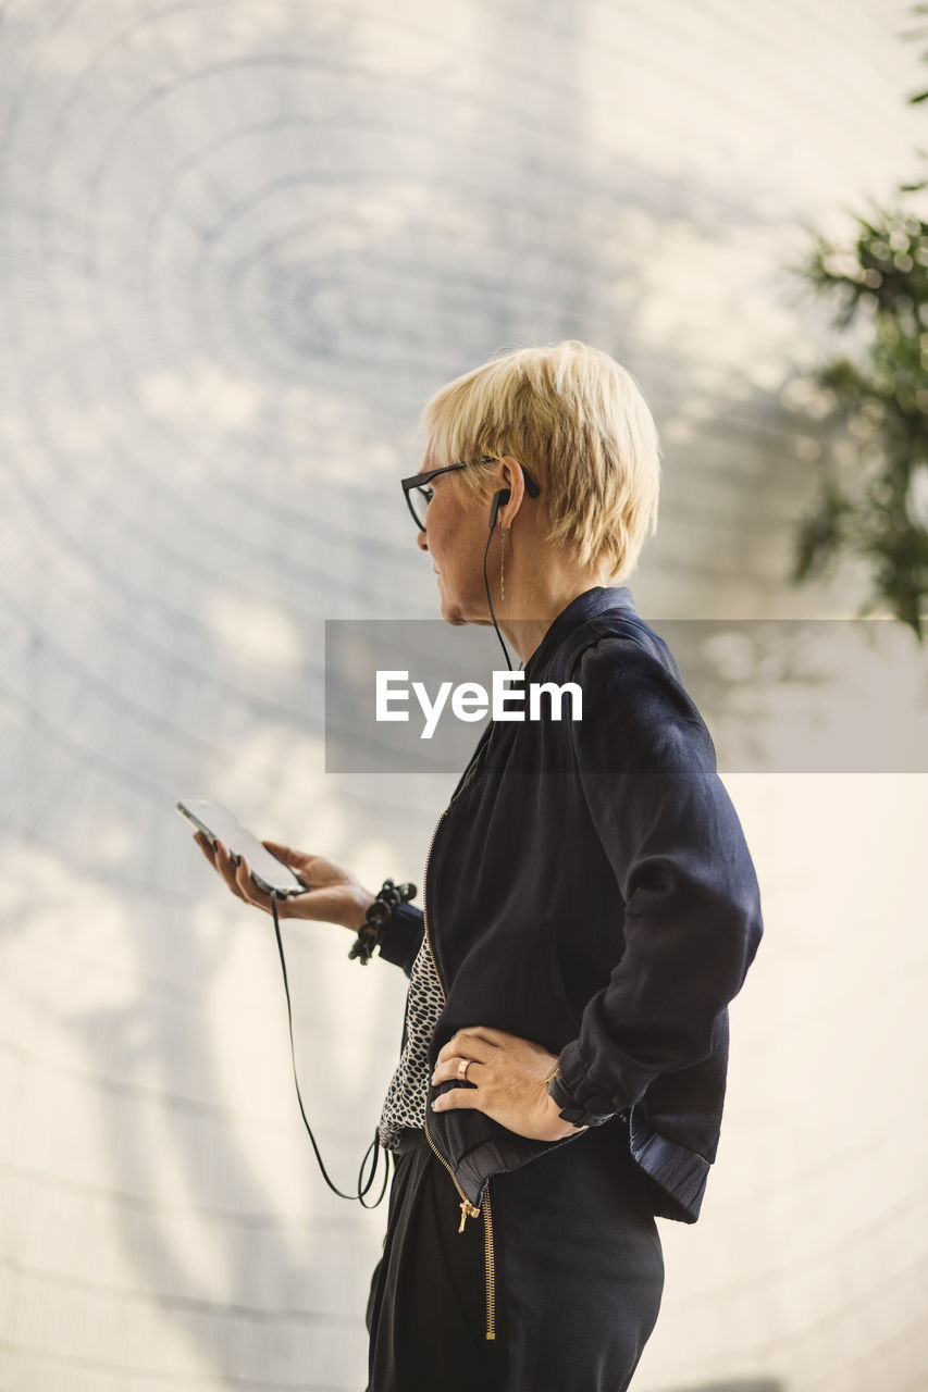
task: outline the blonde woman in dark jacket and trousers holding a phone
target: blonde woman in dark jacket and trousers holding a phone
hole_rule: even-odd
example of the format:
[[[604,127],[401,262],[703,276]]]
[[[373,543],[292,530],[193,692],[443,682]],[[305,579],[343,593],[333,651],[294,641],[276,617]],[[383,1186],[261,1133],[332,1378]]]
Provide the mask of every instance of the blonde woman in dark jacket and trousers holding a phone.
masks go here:
[[[442,617],[493,624],[525,688],[573,692],[488,724],[424,912],[266,842],[309,887],[281,913],[376,938],[411,979],[369,1392],[620,1392],[663,1290],[655,1215],[695,1222],[715,1160],[757,878],[677,664],[610,585],[656,528],[631,376],[574,341],[518,349],[442,388],[424,425],[403,486]],[[247,862],[198,839],[270,912]]]

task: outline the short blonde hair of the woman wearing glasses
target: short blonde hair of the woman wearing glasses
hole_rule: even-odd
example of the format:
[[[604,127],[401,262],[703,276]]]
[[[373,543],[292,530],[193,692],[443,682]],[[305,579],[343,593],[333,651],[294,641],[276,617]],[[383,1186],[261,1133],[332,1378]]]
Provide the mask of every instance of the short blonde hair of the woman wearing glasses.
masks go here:
[[[481,455],[524,464],[548,539],[580,565],[605,561],[616,582],[658,529],[658,430],[635,379],[599,348],[570,338],[493,355],[436,391],[419,425],[426,468],[474,461],[453,475],[467,497],[489,491],[493,465]]]

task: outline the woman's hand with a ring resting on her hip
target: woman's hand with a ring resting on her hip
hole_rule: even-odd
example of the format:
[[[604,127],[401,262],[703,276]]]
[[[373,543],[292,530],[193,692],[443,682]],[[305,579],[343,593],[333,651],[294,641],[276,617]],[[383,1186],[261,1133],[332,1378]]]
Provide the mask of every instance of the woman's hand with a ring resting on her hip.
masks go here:
[[[467,1082],[475,1086],[442,1093],[432,1111],[471,1108],[531,1140],[563,1140],[587,1130],[563,1121],[557,1102],[549,1097],[546,1083],[557,1057],[541,1044],[484,1025],[458,1030],[439,1052],[432,1084],[461,1077],[461,1059],[470,1059]]]

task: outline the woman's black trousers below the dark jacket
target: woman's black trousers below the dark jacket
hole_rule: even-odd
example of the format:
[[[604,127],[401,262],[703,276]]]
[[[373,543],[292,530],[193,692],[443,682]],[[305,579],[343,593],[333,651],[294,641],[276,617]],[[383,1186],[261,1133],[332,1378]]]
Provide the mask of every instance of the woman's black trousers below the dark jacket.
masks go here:
[[[493,1175],[458,1232],[449,1172],[407,1132],[368,1300],[368,1392],[624,1392],[663,1293],[651,1183],[616,1119]]]

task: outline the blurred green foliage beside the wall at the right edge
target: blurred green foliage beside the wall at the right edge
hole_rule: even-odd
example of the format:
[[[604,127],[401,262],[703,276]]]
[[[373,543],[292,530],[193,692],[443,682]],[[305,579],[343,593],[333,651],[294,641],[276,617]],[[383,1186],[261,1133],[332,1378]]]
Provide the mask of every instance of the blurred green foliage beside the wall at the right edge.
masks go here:
[[[915,6],[920,15],[928,6]],[[927,26],[906,38],[924,38]],[[928,58],[928,52],[922,54]],[[928,89],[908,97],[928,100]],[[925,152],[918,150],[925,160]],[[928,178],[899,185],[911,203]],[[921,200],[924,203],[924,199]],[[928,223],[899,206],[856,216],[853,245],[814,235],[800,274],[856,326],[856,361],[812,373],[835,447],[821,461],[819,496],[796,533],[791,579],[823,575],[839,557],[867,564],[864,612],[889,607],[924,642],[928,594]]]

